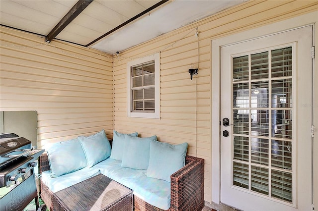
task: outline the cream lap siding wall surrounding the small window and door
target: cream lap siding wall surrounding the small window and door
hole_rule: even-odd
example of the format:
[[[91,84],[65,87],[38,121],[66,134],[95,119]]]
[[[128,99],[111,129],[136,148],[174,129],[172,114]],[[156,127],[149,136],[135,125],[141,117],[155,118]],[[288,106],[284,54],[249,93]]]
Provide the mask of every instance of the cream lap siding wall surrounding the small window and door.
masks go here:
[[[211,40],[315,11],[317,3],[248,1],[121,52],[114,57],[114,129],[187,142],[188,155],[205,159],[204,198],[211,202]],[[160,119],[128,118],[127,62],[158,52]],[[198,60],[199,74],[190,80],[189,65]]]

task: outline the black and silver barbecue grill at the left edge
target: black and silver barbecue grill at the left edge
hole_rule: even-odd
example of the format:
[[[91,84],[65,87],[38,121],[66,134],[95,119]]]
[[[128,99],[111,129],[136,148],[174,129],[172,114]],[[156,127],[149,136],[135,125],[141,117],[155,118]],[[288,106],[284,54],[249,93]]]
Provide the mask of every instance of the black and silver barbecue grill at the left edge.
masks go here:
[[[33,167],[44,150],[34,150],[31,142],[16,134],[0,134],[0,211],[22,211],[38,194]]]

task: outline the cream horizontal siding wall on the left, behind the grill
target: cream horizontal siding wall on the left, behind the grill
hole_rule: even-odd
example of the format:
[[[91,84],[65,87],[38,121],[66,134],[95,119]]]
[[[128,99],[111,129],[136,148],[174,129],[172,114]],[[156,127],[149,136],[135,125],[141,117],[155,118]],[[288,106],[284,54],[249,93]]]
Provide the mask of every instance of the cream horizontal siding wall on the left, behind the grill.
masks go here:
[[[38,148],[102,129],[112,136],[112,55],[0,30],[0,110],[37,111]]]

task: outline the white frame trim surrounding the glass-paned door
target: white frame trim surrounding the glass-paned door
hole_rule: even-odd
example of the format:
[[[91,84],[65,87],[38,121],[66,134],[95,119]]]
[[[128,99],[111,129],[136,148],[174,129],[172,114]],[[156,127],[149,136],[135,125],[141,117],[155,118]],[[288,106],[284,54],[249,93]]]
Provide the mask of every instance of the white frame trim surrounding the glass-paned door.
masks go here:
[[[318,22],[318,12],[312,12],[305,15],[301,15],[298,17],[290,18],[288,20],[284,20],[281,22],[269,24],[266,26],[261,26],[259,28],[251,29],[248,31],[240,32],[234,35],[230,35],[224,38],[216,39],[211,41],[211,53],[212,53],[212,59],[211,59],[211,67],[212,67],[212,73],[211,73],[211,144],[212,144],[212,155],[211,155],[211,199],[213,203],[220,203],[220,190],[221,190],[221,96],[220,96],[220,85],[221,85],[221,47],[226,45],[231,45],[247,40],[253,40],[260,37],[265,37],[268,35],[273,35],[277,33],[281,33],[284,31],[289,31],[291,29],[297,29],[303,26],[308,25],[314,25],[315,22]],[[315,25],[314,25],[315,26]],[[264,33],[265,32],[265,33]],[[318,34],[317,28],[314,27],[314,34]],[[315,38],[315,36],[314,36]],[[315,44],[318,43],[317,40],[314,39]],[[314,45],[315,45],[314,44]],[[318,48],[318,45],[316,45]],[[317,58],[317,55],[316,55]],[[317,59],[315,59],[317,60]],[[317,73],[317,66],[314,66],[314,72]],[[316,86],[317,89],[317,84]],[[315,92],[314,87],[314,95],[317,95]],[[317,103],[317,99],[314,99],[314,101]],[[314,105],[316,105],[314,103]],[[314,112],[317,111],[318,108],[314,107]],[[315,117],[317,116],[317,112],[315,112]],[[314,119],[315,123],[318,122],[318,118]],[[316,128],[318,125],[316,125]],[[316,134],[315,137],[315,146],[314,146],[314,155],[318,154],[318,134]],[[318,159],[314,158],[314,166],[318,166]],[[314,169],[314,178],[317,178],[318,176],[318,169]],[[317,180],[317,179],[316,179]],[[318,185],[318,184],[314,184]],[[318,190],[315,191],[315,204],[317,207],[318,204]]]

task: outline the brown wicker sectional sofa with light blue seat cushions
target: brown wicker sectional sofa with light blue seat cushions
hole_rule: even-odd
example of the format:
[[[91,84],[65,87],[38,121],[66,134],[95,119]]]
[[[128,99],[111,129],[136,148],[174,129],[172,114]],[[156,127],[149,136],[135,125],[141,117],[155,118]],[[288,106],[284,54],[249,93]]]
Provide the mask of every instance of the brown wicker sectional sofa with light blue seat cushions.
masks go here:
[[[199,211],[202,210],[202,208],[204,207],[204,160],[201,158],[185,156],[184,167],[172,173],[169,178],[170,181],[166,182],[162,179],[148,178],[146,176],[146,170],[135,170],[133,168],[120,167],[121,161],[111,158],[106,158],[105,160],[96,163],[93,166],[89,166],[90,168],[87,168],[86,166],[85,168],[76,170],[75,172],[66,173],[59,178],[54,178],[55,176],[53,176],[53,178],[50,178],[50,176],[48,175],[50,175],[49,173],[51,173],[50,164],[52,165],[52,163],[50,163],[49,157],[50,155],[48,156],[48,153],[44,153],[40,156],[39,168],[40,174],[42,175],[40,180],[40,196],[50,210],[54,210],[54,205],[55,203],[57,203],[53,197],[54,192],[59,191],[61,188],[63,189],[67,186],[74,185],[73,183],[80,182],[80,180],[85,180],[99,173],[102,173],[105,176],[108,176],[111,179],[134,190],[135,211]],[[135,177],[135,171],[137,171],[138,174],[137,183],[135,183],[134,178],[133,180],[130,180],[130,177]],[[81,174],[80,172],[83,173]],[[139,174],[141,174],[142,176],[139,177]],[[118,177],[116,175],[120,176]],[[122,177],[123,179],[121,179]],[[74,178],[79,178],[79,181],[75,181]],[[61,181],[60,179],[62,179],[61,183],[54,183],[54,180]],[[50,180],[52,180],[53,183],[50,183]],[[71,182],[71,184],[64,184],[65,181],[66,183],[69,183],[69,180],[73,180],[73,183]],[[145,182],[140,182],[140,180],[145,180]],[[141,187],[139,187],[139,184]],[[166,187],[167,184],[168,187]],[[52,190],[48,186],[51,187]],[[155,187],[155,189],[157,188],[158,190],[146,190],[145,186],[147,186],[147,189],[148,186],[153,186],[153,188]],[[151,196],[153,191],[154,196]],[[141,192],[142,194],[140,195]],[[166,194],[167,196],[161,197],[162,199],[160,197],[158,198],[158,196],[155,196],[155,193],[159,193],[160,195],[161,192],[164,192],[164,194]],[[146,198],[151,198],[151,200],[153,200],[154,198],[155,201],[149,202],[149,200],[145,199],[144,196],[146,196]],[[156,197],[158,198],[158,200]],[[170,199],[168,205],[165,204],[165,197],[166,199]],[[167,206],[169,205],[170,207],[168,209],[161,209],[162,206],[160,208],[160,200],[162,200],[164,208],[167,208]],[[154,206],[154,204],[156,206]]]

